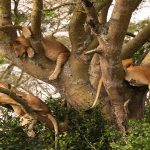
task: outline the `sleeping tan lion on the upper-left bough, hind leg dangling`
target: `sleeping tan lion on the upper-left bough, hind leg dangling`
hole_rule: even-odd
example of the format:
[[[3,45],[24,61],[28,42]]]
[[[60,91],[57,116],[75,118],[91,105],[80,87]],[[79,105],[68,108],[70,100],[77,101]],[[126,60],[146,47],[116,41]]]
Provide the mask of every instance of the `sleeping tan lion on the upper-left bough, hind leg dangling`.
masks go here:
[[[70,52],[63,44],[56,41],[53,37],[42,38],[41,42],[45,56],[52,61],[56,61],[54,72],[49,77],[49,80],[55,80],[61,72],[62,65],[68,60]],[[17,37],[11,46],[17,57],[23,56],[26,52],[28,57],[32,58],[34,56],[34,50],[31,47],[30,41],[23,35]]]

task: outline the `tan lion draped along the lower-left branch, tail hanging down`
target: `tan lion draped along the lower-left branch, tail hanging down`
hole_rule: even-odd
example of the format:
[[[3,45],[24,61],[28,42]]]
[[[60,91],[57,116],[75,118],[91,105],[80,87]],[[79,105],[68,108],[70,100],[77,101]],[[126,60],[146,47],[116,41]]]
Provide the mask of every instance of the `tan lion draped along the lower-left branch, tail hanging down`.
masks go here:
[[[7,84],[0,83],[0,87],[8,89]],[[50,114],[48,106],[41,101],[38,97],[32,95],[32,94],[26,94],[22,92],[16,92],[17,96],[22,97],[24,100],[26,100],[28,106],[30,106],[34,111],[38,112],[38,114],[47,116],[49,120],[52,122],[55,130],[55,135],[58,134],[58,124],[56,119]],[[30,137],[35,136],[35,132],[33,130],[33,126],[37,122],[36,119],[34,119],[30,114],[26,113],[22,106],[17,103],[14,99],[9,97],[8,95],[4,93],[0,93],[0,104],[8,104],[10,105],[16,115],[20,118],[21,125],[27,125],[27,128],[25,129],[25,132]]]

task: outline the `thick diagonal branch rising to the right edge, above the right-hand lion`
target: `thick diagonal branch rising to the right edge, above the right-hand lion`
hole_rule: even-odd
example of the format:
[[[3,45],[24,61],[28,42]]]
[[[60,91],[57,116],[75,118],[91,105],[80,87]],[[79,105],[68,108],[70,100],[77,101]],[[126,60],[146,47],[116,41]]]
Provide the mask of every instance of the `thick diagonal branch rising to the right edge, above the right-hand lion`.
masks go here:
[[[132,55],[139,50],[150,39],[150,24],[146,25],[142,31],[140,31],[135,38],[123,45],[122,59],[132,57]]]

